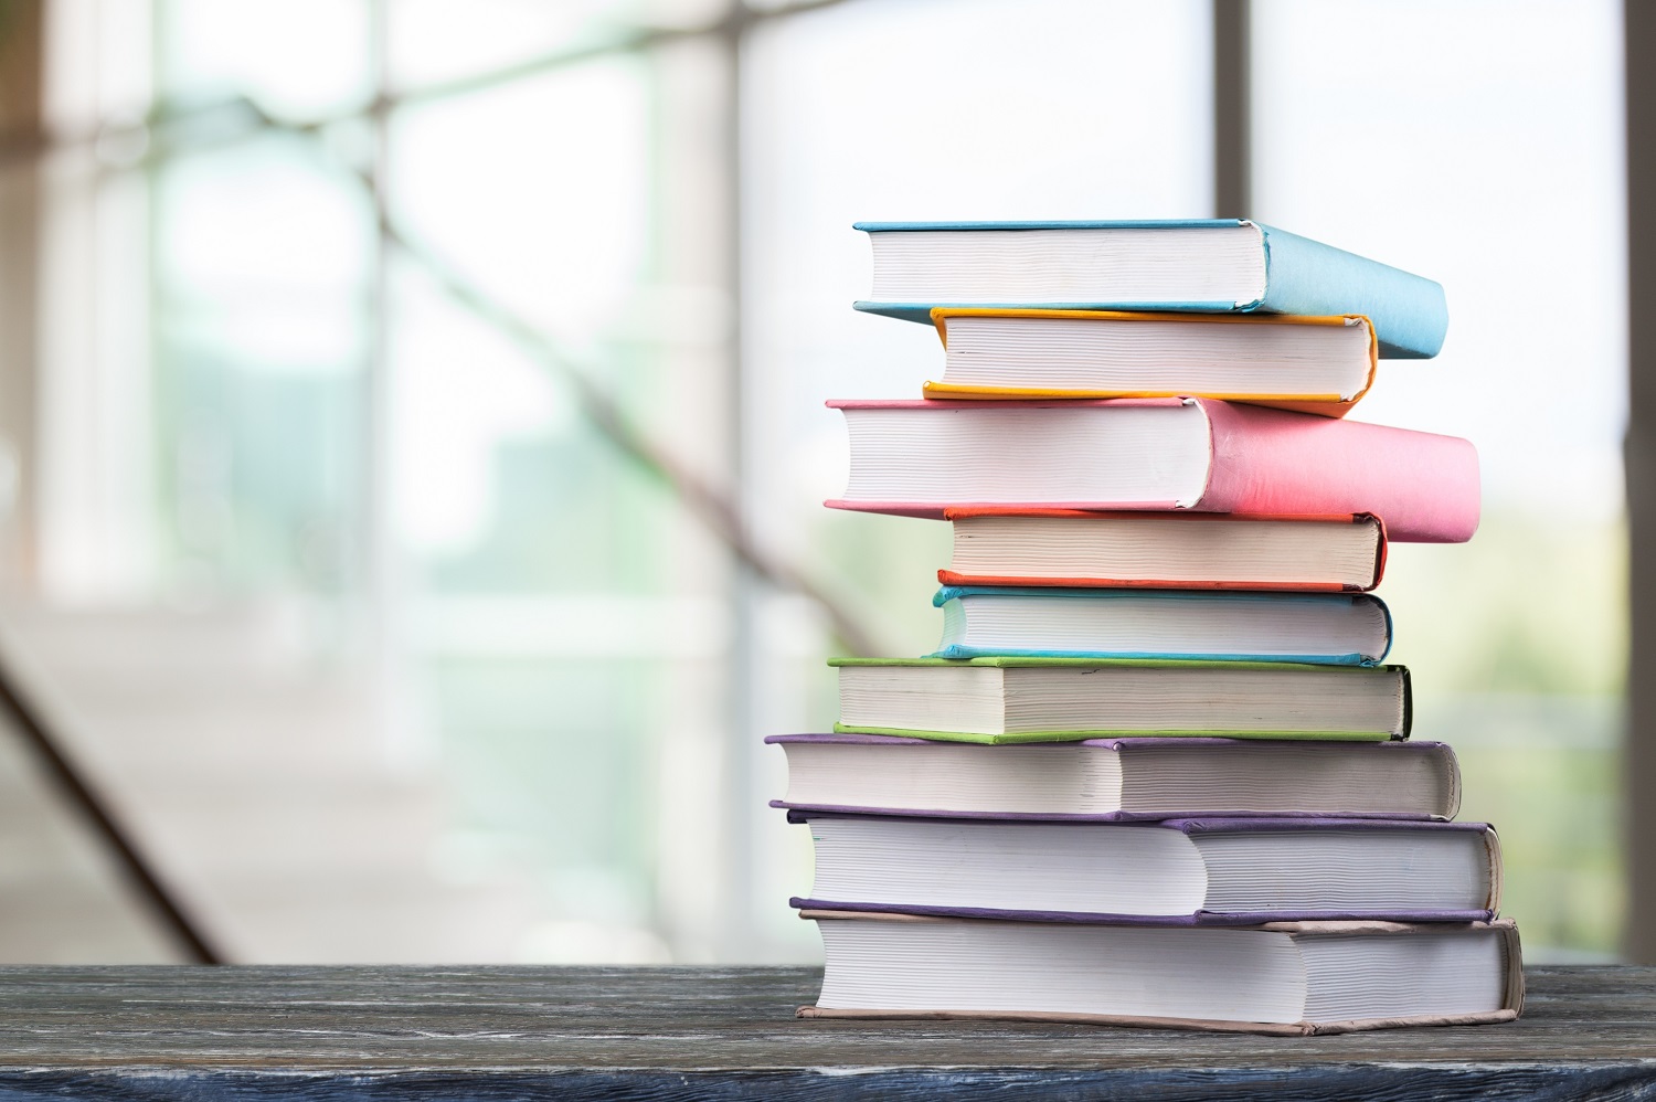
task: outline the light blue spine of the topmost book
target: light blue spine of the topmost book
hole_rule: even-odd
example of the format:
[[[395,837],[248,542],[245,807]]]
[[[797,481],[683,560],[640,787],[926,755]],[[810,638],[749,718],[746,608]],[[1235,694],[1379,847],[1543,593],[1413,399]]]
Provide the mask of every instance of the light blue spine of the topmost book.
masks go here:
[[[1442,285],[1341,249],[1260,227],[1265,234],[1265,297],[1272,313],[1365,313],[1379,355],[1429,360],[1449,331]]]

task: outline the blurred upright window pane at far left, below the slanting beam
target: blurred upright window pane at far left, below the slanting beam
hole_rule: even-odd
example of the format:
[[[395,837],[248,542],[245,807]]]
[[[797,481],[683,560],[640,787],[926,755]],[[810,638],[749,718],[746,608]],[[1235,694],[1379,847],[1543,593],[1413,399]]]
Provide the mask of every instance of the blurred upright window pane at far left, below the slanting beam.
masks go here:
[[[171,162],[156,220],[164,578],[338,593],[361,537],[366,202],[273,138]]]

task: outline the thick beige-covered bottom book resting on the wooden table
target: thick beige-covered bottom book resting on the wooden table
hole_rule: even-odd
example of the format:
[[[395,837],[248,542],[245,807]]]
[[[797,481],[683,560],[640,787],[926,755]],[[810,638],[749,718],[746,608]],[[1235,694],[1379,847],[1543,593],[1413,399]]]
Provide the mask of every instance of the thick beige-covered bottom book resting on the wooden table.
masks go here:
[[[1472,923],[1124,926],[803,910],[826,951],[802,1017],[1010,1017],[1278,1034],[1510,1021],[1519,931]]]

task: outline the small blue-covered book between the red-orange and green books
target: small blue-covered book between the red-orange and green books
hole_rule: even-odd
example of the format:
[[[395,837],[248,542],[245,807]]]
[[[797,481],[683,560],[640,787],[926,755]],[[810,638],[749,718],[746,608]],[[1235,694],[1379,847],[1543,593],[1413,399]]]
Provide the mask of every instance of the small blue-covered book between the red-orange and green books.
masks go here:
[[[932,658],[1167,658],[1373,666],[1391,613],[1370,593],[946,585]]]

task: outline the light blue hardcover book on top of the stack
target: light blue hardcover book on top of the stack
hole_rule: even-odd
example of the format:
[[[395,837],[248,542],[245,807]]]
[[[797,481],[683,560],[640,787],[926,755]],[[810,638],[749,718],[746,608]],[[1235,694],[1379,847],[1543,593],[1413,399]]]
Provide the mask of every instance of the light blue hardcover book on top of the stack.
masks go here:
[[[1366,315],[1379,355],[1442,348],[1439,283],[1244,219],[858,222],[874,290],[858,310],[931,323],[934,307]]]

